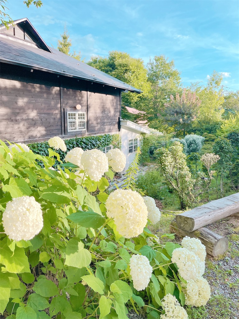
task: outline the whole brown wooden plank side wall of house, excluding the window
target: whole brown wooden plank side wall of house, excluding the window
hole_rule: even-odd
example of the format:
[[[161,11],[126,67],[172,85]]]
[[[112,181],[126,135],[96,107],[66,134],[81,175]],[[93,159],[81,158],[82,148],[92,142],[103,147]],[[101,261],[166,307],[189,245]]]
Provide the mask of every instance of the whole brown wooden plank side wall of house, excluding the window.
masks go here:
[[[4,65],[4,66],[3,66]],[[67,133],[66,112],[76,105],[87,130]],[[120,89],[0,63],[0,139],[36,142],[118,131]]]

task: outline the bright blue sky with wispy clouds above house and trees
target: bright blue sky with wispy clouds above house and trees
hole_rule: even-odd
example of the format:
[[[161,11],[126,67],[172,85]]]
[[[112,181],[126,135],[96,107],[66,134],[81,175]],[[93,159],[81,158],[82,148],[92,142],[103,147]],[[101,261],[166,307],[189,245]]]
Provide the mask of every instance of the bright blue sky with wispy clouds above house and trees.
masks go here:
[[[239,89],[238,0],[42,0],[29,9],[9,0],[12,19],[27,17],[49,45],[57,46],[66,23],[72,49],[86,61],[119,50],[143,59],[175,61],[185,86],[206,84],[213,70]],[[228,89],[230,90],[230,89]]]

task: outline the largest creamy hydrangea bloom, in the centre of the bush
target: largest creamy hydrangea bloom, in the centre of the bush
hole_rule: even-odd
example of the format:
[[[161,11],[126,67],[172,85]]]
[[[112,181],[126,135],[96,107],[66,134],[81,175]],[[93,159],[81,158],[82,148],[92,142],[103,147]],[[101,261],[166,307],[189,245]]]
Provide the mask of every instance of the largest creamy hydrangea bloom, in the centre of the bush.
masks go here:
[[[105,202],[106,215],[114,219],[120,235],[131,238],[140,235],[147,224],[148,211],[139,193],[131,189],[116,189]]]

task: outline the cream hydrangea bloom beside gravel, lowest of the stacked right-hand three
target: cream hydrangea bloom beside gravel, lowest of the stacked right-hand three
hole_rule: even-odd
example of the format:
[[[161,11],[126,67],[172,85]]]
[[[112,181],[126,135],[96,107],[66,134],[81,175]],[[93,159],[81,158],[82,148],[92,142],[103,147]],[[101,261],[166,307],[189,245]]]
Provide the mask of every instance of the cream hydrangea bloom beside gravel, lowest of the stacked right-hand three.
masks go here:
[[[185,304],[188,306],[205,306],[210,299],[211,290],[207,280],[203,277],[190,279],[184,289]]]

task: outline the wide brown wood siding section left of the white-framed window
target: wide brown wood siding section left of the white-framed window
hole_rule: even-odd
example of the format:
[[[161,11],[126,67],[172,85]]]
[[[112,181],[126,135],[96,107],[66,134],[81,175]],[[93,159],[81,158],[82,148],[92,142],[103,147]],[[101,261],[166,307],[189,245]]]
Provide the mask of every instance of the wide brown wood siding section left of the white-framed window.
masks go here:
[[[0,139],[20,142],[62,135],[60,87],[47,84],[0,79]]]

